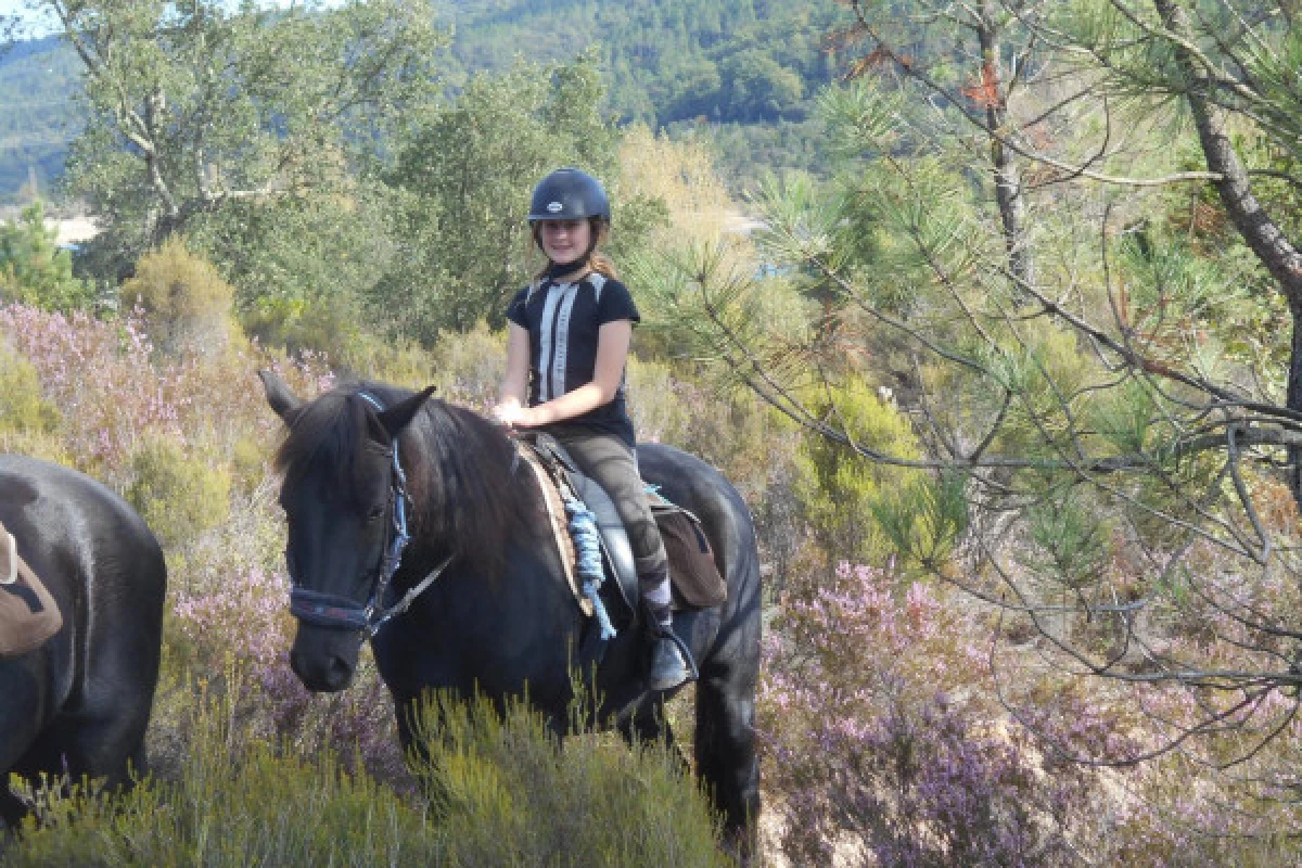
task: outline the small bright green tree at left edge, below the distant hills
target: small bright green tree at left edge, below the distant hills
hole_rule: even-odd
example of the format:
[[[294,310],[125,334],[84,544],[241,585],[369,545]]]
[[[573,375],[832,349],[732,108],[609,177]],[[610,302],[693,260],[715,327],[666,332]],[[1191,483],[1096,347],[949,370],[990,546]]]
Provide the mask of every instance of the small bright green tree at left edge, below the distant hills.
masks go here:
[[[59,247],[59,230],[46,226],[39,200],[0,226],[0,298],[64,311],[94,301],[94,292],[73,277],[72,254]]]

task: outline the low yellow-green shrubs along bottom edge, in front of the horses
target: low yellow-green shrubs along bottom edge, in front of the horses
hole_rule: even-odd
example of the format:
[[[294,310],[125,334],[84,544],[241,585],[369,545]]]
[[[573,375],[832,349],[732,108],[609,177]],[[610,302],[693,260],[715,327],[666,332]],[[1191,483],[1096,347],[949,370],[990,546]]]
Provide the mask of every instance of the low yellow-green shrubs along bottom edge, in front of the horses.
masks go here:
[[[329,751],[289,752],[240,733],[199,688],[172,781],[120,796],[94,786],[27,791],[38,808],[4,864],[620,865],[729,864],[704,799],[663,748],[574,739],[536,716],[444,703],[430,727],[432,803],[344,770]]]

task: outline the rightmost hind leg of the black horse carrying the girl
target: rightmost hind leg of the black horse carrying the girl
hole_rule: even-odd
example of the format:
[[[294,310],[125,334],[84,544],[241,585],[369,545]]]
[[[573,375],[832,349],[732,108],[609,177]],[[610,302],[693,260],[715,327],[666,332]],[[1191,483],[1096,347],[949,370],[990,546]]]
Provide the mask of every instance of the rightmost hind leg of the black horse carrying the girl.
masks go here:
[[[759,759],[755,756],[755,675],[717,662],[697,683],[697,773],[706,781],[724,833],[742,859],[755,852]]]

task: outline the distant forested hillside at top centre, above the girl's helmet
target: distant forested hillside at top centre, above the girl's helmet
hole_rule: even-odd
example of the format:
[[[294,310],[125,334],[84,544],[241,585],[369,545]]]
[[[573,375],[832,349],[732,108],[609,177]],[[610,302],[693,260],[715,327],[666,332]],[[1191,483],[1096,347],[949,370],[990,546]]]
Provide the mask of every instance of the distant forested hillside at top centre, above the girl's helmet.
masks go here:
[[[848,16],[833,0],[464,0],[443,14],[470,70],[596,49],[611,107],[655,126],[802,118]]]

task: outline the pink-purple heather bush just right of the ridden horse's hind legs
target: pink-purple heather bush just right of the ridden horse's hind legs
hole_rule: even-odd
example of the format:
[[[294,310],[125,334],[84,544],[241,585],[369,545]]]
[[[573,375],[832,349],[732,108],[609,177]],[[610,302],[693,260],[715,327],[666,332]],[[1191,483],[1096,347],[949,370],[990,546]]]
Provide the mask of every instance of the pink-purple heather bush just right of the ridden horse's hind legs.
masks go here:
[[[1040,768],[991,691],[974,623],[932,591],[842,563],[793,584],[767,647],[767,786],[784,852],[832,864],[1059,865],[1091,796],[1083,774]]]

